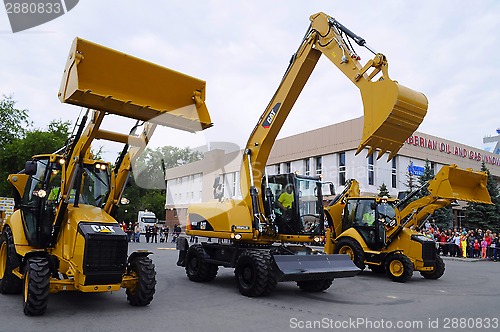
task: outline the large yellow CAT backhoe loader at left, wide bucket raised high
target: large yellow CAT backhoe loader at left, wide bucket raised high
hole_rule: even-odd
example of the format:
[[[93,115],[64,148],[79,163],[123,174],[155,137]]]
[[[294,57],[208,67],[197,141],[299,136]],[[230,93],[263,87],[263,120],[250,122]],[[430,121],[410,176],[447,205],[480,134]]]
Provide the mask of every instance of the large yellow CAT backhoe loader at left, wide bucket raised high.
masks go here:
[[[131,162],[157,125],[190,132],[212,125],[205,82],[77,38],[59,98],[87,111],[66,146],[34,156],[8,177],[16,211],[0,236],[0,292],[22,292],[26,315],[44,314],[49,293],[60,291],[125,288],[131,305],[148,305],[156,285],[151,253],[128,255],[113,216]],[[137,123],[130,133],[101,129],[109,115]],[[124,144],[113,168],[91,154],[98,139]]]

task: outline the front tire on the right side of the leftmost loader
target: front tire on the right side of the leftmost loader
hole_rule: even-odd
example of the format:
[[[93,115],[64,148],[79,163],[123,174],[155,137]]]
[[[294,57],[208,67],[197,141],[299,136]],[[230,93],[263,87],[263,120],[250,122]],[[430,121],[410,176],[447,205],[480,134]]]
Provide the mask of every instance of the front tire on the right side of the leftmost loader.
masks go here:
[[[128,273],[137,277],[137,283],[127,288],[127,301],[136,307],[146,306],[153,301],[156,286],[156,271],[149,257],[136,257],[129,266]]]

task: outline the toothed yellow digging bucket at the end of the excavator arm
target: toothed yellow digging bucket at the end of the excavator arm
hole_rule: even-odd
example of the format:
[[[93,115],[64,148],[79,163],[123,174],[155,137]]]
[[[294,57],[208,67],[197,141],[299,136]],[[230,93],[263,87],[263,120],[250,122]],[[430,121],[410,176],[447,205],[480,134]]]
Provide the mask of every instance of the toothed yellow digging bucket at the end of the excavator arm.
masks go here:
[[[389,152],[390,160],[422,123],[427,113],[427,98],[390,79],[370,82],[361,90],[361,98],[364,127],[356,154],[369,147],[369,155],[379,149],[378,158]]]

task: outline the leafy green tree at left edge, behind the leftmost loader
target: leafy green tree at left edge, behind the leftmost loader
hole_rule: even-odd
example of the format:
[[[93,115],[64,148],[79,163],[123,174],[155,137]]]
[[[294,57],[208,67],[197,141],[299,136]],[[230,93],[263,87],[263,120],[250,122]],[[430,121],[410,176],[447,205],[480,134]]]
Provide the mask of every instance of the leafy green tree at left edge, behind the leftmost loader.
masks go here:
[[[69,135],[70,122],[52,121],[46,130],[33,129],[14,138],[0,149],[0,196],[11,196],[10,184],[5,181],[9,174],[24,169],[26,161],[38,154],[53,153],[64,146]]]

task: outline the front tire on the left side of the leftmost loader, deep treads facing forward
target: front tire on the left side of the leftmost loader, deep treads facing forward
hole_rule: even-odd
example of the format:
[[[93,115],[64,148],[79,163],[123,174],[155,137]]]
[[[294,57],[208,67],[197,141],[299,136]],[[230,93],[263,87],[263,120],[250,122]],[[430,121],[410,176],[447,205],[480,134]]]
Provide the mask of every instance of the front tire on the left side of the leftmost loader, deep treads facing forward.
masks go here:
[[[23,309],[27,316],[40,316],[47,310],[50,265],[46,257],[31,257],[24,271]]]

